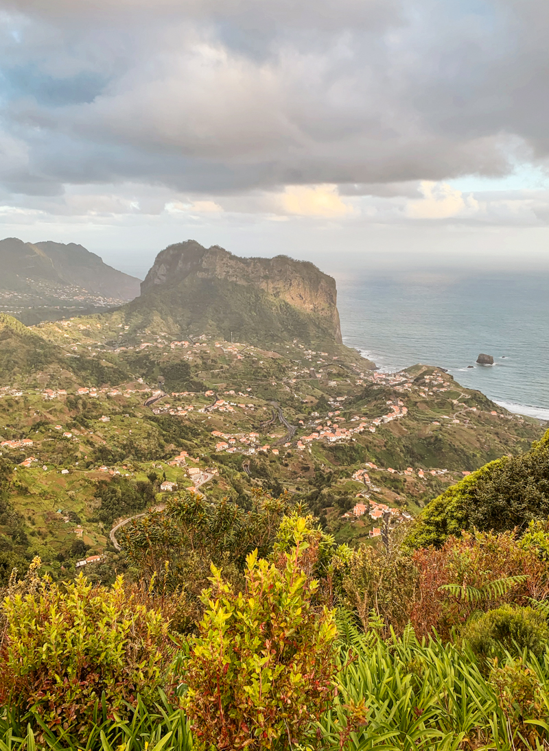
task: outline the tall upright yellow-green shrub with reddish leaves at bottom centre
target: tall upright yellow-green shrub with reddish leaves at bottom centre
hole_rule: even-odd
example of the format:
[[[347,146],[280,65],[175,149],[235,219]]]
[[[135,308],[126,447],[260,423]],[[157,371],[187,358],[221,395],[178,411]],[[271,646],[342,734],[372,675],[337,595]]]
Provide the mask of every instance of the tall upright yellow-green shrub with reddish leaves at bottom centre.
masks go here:
[[[286,553],[283,571],[250,553],[242,593],[213,567],[185,675],[204,748],[289,748],[332,700],[337,631],[331,611],[312,607],[318,584],[300,566],[306,547],[302,538]]]

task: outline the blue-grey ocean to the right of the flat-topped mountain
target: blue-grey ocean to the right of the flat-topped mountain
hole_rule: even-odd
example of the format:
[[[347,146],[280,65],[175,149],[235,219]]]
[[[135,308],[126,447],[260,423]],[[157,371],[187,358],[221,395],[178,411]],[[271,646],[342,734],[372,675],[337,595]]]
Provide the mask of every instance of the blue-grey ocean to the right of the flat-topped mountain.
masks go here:
[[[333,276],[343,342],[379,369],[441,366],[511,412],[549,420],[549,272]],[[493,366],[475,363],[481,352]]]

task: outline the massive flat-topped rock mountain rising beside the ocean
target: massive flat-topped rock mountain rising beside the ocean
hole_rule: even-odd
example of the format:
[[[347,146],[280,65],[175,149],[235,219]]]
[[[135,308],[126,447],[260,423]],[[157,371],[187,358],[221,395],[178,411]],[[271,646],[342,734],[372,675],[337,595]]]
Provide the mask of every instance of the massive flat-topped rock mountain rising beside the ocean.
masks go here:
[[[161,251],[124,307],[129,334],[341,343],[336,282],[308,261],[239,258],[195,240]]]

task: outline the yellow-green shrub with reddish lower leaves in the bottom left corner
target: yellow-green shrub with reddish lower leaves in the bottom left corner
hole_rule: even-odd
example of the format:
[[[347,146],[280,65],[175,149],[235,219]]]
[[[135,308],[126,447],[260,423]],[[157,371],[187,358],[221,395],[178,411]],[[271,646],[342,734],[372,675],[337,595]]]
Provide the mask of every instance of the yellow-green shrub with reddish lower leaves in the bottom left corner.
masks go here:
[[[110,717],[125,716],[137,694],[155,701],[173,647],[167,620],[139,594],[125,590],[122,577],[94,588],[80,575],[66,586],[41,580],[35,593],[6,598],[0,704],[81,732],[97,701]]]

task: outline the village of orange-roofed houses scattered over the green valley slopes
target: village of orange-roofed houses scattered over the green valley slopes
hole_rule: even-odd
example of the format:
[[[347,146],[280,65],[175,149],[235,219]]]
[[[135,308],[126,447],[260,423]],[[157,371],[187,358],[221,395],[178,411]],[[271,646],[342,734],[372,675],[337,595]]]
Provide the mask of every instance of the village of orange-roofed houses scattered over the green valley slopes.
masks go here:
[[[111,385],[17,382],[0,388],[0,454],[16,464],[23,484],[61,494],[63,518],[78,508],[82,523],[63,523],[65,531],[54,533],[52,521],[51,534],[86,541],[89,555],[78,559],[80,566],[101,562],[96,556],[107,545],[108,529],[92,521],[93,499],[84,504],[91,503],[87,511],[77,502],[89,483],[145,482],[156,473],[161,506],[189,492],[216,502],[224,493],[234,497],[234,487],[238,493],[276,487],[297,499],[331,473],[330,493],[341,496],[342,505],[330,502],[328,493],[324,523],[338,540],[353,544],[366,537],[375,544],[386,520],[411,519],[427,499],[474,469],[433,466],[428,452],[425,460],[411,460],[388,445],[409,433],[429,441],[438,432],[466,446],[476,430],[497,439],[499,423],[520,427],[523,421],[485,409],[442,369],[379,372],[359,358],[299,343],[276,352],[204,335],[126,342],[127,329],[118,327],[119,345],[109,351],[158,361],[158,378],[142,372]],[[68,339],[64,348],[71,356],[107,350],[91,323],[61,321],[53,328]],[[181,361],[189,363],[192,384],[170,388],[162,363]],[[22,496],[20,503],[29,501]],[[43,502],[39,507],[47,526],[50,511]]]

